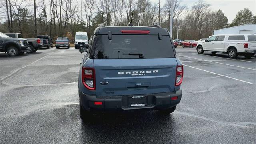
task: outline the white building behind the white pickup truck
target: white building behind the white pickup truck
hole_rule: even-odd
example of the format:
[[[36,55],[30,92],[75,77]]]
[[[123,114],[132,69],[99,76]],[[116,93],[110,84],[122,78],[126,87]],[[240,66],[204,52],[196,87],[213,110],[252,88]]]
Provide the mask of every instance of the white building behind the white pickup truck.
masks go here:
[[[244,24],[230,28],[214,30],[214,34],[256,34],[256,24]]]

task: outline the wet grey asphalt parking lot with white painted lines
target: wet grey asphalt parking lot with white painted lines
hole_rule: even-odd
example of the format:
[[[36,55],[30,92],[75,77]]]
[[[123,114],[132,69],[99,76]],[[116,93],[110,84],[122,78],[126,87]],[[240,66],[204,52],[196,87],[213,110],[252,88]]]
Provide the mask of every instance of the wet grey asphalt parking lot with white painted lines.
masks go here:
[[[79,116],[77,83],[84,54],[74,48],[1,53],[1,143],[255,143],[256,58],[176,52],[184,81],[174,113],[98,114],[87,124]]]

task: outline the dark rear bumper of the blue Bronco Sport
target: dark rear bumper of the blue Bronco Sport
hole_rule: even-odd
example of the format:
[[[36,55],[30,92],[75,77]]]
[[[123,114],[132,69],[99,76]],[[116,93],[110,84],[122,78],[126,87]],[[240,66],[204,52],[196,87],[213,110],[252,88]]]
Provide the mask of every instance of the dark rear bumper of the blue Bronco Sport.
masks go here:
[[[146,96],[146,106],[128,106],[128,97]],[[178,99],[171,100],[177,96]],[[93,96],[79,91],[82,107],[88,111],[133,111],[133,110],[158,110],[172,108],[180,103],[182,90],[168,93],[129,95],[129,96]],[[102,105],[94,105],[94,102],[102,102]]]

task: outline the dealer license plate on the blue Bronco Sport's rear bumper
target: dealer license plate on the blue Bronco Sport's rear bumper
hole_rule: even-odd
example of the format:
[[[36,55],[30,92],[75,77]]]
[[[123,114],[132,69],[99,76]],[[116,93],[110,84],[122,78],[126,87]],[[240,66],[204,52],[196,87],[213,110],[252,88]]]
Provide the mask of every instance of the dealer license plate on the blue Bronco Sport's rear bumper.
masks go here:
[[[147,96],[130,96],[128,97],[128,107],[146,106]]]

